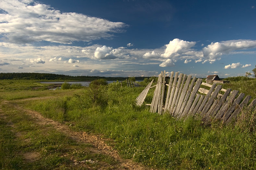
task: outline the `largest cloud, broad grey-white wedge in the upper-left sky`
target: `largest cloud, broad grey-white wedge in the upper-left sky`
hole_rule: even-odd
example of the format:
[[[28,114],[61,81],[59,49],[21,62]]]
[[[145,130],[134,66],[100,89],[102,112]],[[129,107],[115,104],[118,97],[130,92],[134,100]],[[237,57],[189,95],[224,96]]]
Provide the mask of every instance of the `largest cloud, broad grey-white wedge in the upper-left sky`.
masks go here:
[[[7,42],[48,41],[70,44],[112,37],[122,31],[122,22],[61,12],[34,0],[1,0],[0,32]],[[74,31],[76,30],[76,31]]]

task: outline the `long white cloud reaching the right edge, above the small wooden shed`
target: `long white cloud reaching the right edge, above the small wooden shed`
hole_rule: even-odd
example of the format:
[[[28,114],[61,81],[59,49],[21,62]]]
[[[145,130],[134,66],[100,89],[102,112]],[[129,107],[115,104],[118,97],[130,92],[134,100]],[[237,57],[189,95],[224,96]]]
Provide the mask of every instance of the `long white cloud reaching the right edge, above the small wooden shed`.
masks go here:
[[[204,61],[214,62],[223,54],[229,54],[231,51],[256,48],[256,40],[231,40],[225,42],[211,43],[203,48]]]

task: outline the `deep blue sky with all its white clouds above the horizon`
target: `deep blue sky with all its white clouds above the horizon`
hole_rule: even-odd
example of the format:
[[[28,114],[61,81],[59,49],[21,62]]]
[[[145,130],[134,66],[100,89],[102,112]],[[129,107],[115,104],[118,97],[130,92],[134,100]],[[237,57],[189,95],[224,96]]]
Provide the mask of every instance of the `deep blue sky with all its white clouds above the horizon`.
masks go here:
[[[0,0],[0,72],[244,76],[256,1]]]

